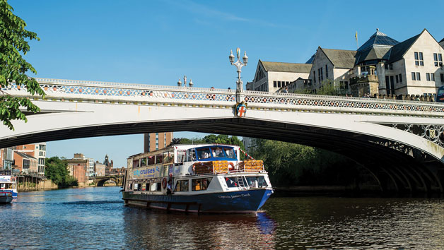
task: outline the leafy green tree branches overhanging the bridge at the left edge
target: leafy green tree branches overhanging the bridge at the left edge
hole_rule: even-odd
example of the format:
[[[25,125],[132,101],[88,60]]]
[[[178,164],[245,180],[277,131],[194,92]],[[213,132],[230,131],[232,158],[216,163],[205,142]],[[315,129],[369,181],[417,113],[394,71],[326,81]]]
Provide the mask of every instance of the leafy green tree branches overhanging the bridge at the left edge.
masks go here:
[[[37,73],[33,66],[23,59],[30,46],[28,40],[40,40],[35,32],[25,30],[24,20],[15,16],[13,8],[7,0],[0,0],[0,87],[7,88],[11,83],[25,86],[31,95],[45,97],[35,78],[26,75],[28,71]],[[12,97],[0,88],[0,121],[14,129],[11,120],[21,119],[28,121],[20,108],[25,107],[28,112],[39,112],[40,109],[26,97]]]

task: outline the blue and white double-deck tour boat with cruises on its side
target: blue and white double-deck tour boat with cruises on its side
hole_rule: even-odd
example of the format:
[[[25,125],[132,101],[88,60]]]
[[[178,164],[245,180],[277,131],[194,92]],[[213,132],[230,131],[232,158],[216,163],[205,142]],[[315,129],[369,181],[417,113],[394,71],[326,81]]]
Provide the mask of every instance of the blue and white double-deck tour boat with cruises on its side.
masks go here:
[[[173,145],[128,158],[126,205],[192,213],[254,213],[273,194],[262,160],[235,145]]]

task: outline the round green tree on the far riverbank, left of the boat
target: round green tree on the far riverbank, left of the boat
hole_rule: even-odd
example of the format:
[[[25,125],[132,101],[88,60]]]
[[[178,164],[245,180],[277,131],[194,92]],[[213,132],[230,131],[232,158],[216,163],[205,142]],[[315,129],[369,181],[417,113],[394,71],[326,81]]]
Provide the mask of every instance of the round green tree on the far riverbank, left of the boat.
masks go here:
[[[66,160],[60,159],[57,156],[46,158],[45,176],[54,184],[57,184],[59,188],[78,186],[77,180],[69,175],[68,163]]]

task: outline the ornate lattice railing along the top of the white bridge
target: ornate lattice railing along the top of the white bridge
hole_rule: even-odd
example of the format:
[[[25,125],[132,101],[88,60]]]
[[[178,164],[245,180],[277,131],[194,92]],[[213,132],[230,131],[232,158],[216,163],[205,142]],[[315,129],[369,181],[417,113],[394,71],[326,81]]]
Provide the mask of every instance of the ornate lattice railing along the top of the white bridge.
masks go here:
[[[119,102],[121,104],[163,103],[168,105],[235,104],[235,90],[185,88],[178,86],[107,83],[36,78],[47,100],[83,102]],[[11,95],[30,96],[23,86],[11,84],[2,90]],[[350,112],[372,114],[444,117],[444,105],[436,102],[380,100],[372,98],[303,95],[245,91],[248,108],[300,110],[312,112]]]

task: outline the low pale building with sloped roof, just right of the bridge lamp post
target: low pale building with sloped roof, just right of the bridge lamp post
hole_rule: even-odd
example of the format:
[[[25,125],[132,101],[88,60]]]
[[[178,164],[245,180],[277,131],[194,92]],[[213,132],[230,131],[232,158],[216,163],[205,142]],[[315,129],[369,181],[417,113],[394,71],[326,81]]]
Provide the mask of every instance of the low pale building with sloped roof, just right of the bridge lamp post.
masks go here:
[[[276,92],[298,79],[308,79],[312,64],[292,64],[274,61],[257,63],[255,78],[247,83],[247,90]]]

